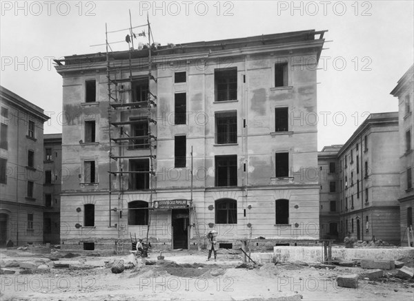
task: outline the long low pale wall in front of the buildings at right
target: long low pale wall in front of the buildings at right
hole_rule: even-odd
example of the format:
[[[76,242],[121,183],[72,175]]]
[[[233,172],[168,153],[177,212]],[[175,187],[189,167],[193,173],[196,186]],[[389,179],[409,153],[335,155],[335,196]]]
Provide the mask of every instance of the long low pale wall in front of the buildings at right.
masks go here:
[[[414,257],[414,248],[332,248],[332,258],[340,260],[373,259],[397,260],[403,257]],[[279,262],[322,261],[322,247],[274,247],[273,258]]]

